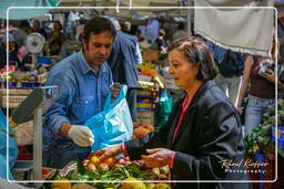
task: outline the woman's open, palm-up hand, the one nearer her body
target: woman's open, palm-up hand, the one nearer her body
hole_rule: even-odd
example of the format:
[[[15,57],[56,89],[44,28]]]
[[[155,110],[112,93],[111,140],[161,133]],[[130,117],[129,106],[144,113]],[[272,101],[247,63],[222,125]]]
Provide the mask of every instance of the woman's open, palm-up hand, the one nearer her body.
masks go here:
[[[146,167],[154,168],[154,167],[163,167],[170,164],[170,156],[173,153],[166,148],[153,148],[148,149],[148,156],[141,156],[144,160]]]

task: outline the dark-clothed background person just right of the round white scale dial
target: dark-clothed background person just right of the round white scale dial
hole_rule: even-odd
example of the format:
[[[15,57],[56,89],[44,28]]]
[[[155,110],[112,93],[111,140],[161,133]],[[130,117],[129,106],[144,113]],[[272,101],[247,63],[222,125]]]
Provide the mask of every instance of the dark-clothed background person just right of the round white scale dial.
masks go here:
[[[59,55],[61,45],[65,41],[65,36],[61,31],[62,31],[61,22],[58,20],[54,21],[51,36],[48,38],[48,44],[49,44],[49,48],[48,48],[49,52],[47,52],[48,55]]]

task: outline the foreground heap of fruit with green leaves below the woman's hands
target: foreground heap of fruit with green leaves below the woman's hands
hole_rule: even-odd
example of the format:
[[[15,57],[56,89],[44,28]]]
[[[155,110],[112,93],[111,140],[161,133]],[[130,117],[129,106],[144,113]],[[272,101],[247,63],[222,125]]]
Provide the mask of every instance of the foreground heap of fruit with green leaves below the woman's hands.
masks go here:
[[[42,188],[170,189],[170,185],[164,183],[169,180],[169,166],[149,169],[142,160],[131,161],[129,157],[110,157],[101,162],[98,156],[91,154],[82,161],[69,164],[62,170],[57,170],[47,178],[54,182],[45,182]],[[155,180],[155,183],[149,180]]]

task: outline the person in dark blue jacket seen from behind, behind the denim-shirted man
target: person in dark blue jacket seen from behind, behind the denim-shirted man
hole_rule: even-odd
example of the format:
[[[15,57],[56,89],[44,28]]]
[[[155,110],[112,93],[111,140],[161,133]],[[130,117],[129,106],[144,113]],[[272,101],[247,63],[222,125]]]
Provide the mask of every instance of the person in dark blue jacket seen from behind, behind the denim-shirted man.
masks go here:
[[[126,101],[132,122],[135,123],[138,122],[135,88],[139,87],[136,64],[142,62],[142,56],[136,36],[122,32],[116,20],[111,19],[111,21],[115,27],[116,35],[108,63],[112,71],[113,81],[126,84],[129,87]]]

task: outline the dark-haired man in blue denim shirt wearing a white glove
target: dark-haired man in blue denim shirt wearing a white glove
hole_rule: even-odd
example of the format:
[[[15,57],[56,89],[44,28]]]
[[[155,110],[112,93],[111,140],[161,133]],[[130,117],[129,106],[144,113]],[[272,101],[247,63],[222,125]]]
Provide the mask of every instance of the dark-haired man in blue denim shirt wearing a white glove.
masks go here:
[[[62,60],[50,71],[47,85],[59,86],[59,98],[45,114],[44,166],[62,168],[90,154],[93,134],[82,124],[102,111],[113,84],[105,61],[114,36],[115,29],[108,19],[90,20],[84,28],[82,51]]]

